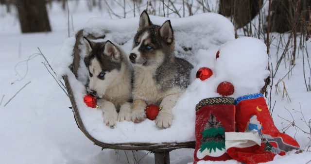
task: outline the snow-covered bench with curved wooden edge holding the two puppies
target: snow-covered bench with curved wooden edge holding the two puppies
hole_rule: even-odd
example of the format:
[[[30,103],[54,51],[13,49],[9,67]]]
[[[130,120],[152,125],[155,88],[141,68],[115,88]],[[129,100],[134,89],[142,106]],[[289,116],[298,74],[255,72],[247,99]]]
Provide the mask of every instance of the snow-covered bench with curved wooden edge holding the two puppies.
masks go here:
[[[196,66],[196,55],[200,49],[214,50],[234,39],[234,28],[224,16],[205,13],[185,18],[150,16],[154,24],[161,25],[170,19],[175,37],[175,54]],[[138,29],[139,17],[126,19],[91,18],[77,33],[91,39],[111,40],[122,45],[125,52],[132,48],[133,37]],[[172,109],[173,122],[168,129],[160,130],[155,122],[146,119],[133,122],[117,122],[114,129],[103,123],[102,112],[89,108],[83,102],[86,94],[85,52],[81,45],[81,35],[65,40],[62,49],[54,59],[54,69],[58,78],[63,78],[72,104],[74,118],[81,131],[94,144],[102,148],[124,150],[148,150],[155,152],[156,163],[169,163],[169,152],[177,148],[195,147],[195,105],[202,99],[185,92]],[[196,70],[191,73],[194,79]],[[194,75],[193,75],[194,74]],[[201,94],[202,95],[202,94]],[[184,102],[187,99],[188,102]]]

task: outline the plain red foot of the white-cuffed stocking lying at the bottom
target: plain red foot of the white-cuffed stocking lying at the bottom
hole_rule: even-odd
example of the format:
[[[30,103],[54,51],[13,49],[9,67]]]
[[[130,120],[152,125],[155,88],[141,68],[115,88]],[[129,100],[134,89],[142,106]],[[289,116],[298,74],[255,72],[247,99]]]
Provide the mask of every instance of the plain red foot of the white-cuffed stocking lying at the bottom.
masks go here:
[[[259,145],[247,148],[228,148],[227,153],[231,158],[245,164],[258,164],[272,161],[276,156],[275,153],[264,151]]]

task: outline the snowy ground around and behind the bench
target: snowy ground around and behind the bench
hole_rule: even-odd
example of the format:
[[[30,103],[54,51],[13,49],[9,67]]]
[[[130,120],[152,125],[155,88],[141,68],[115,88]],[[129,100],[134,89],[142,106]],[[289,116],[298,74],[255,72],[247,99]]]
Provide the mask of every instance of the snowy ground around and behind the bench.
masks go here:
[[[78,6],[75,3],[69,6],[74,30],[83,27],[90,17],[110,18],[107,13],[97,9],[89,12],[82,2],[84,1]],[[60,9],[60,4],[55,3],[49,10],[52,33],[21,34],[16,14],[6,14],[4,7],[0,6],[0,162],[132,164],[141,159],[140,164],[153,163],[154,155],[147,151],[101,151],[100,147],[93,145],[77,128],[72,111],[68,108],[71,106],[69,98],[42,64],[45,61],[43,57],[38,55],[37,48],[52,63],[64,40],[68,38],[67,12]],[[70,33],[73,33],[71,25],[70,29]],[[310,42],[307,46],[310,52]],[[275,51],[272,47],[271,54]],[[270,62],[275,66],[276,60],[276,56],[272,56]],[[286,66],[283,62],[273,79],[274,85],[288,70],[288,62]],[[286,77],[283,81],[291,102],[285,97],[282,98],[282,94],[276,95],[273,85],[271,102],[276,101],[276,105],[272,116],[276,127],[279,130],[285,128],[285,132],[293,136],[305,152],[290,152],[270,163],[305,164],[311,160],[308,127],[311,119],[311,92],[306,91],[301,53],[289,78]],[[25,87],[20,90],[23,86]],[[279,86],[282,92],[283,83],[279,83]],[[293,121],[297,127],[286,128]],[[170,158],[172,164],[190,163],[193,161],[193,149],[173,150]],[[225,163],[238,162],[230,160]]]

